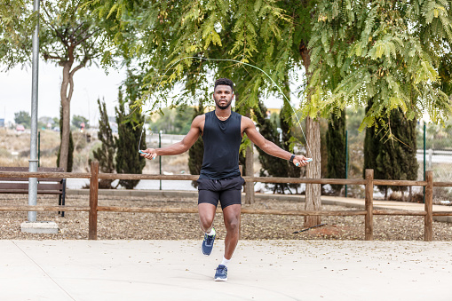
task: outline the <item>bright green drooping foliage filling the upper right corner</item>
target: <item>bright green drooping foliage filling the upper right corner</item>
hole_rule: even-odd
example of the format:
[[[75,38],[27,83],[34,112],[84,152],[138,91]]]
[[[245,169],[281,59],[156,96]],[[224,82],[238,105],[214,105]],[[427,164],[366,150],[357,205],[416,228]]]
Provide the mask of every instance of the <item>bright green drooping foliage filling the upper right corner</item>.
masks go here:
[[[451,1],[323,0],[313,19],[305,115],[356,110],[372,99],[365,127],[385,125],[393,110],[408,120],[427,112],[442,123],[452,113],[438,72],[452,41]],[[443,82],[441,82],[443,81]]]

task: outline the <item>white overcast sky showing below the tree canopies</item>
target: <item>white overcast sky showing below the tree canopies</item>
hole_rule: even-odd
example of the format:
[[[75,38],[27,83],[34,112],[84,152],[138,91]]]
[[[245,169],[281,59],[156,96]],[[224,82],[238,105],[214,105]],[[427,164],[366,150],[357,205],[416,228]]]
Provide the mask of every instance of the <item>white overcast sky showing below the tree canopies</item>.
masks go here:
[[[0,66],[0,118],[5,123],[14,121],[14,113],[31,112],[31,67],[14,67],[4,72]],[[71,100],[71,117],[83,115],[91,125],[98,124],[97,99],[105,99],[108,115],[115,115],[118,87],[125,79],[125,69],[84,67],[74,75],[74,94]],[[59,117],[59,90],[62,67],[41,60],[39,62],[38,118]],[[266,107],[282,107],[282,99],[267,99]]]

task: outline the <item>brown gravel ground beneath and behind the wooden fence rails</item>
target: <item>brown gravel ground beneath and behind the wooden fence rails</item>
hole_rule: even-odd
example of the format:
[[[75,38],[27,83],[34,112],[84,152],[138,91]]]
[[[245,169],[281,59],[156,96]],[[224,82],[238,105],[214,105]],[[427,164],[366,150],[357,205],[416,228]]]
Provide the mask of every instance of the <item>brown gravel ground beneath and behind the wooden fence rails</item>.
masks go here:
[[[27,194],[0,194],[0,205],[24,205]],[[87,206],[88,196],[70,195],[67,205]],[[56,205],[58,197],[38,195],[39,205]],[[163,197],[110,197],[99,195],[102,206],[194,208],[194,198]],[[258,201],[243,208],[303,210],[305,203]],[[219,206],[218,206],[219,207]],[[323,210],[354,210],[342,206],[322,206]],[[20,224],[27,220],[26,212],[1,212],[0,238],[14,240],[86,240],[88,239],[88,213],[67,212],[61,218],[56,212],[37,212],[37,220],[52,220],[59,225],[59,234],[24,234]],[[325,226],[301,234],[303,217],[275,215],[242,215],[241,239],[244,240],[364,240],[364,217],[323,217]],[[224,239],[226,229],[222,214],[217,213],[215,227],[218,238]],[[433,222],[434,241],[452,241],[452,224]],[[196,240],[202,239],[196,214],[155,214],[99,212],[98,238],[101,240]],[[424,218],[400,216],[374,216],[374,239],[379,241],[423,241]]]

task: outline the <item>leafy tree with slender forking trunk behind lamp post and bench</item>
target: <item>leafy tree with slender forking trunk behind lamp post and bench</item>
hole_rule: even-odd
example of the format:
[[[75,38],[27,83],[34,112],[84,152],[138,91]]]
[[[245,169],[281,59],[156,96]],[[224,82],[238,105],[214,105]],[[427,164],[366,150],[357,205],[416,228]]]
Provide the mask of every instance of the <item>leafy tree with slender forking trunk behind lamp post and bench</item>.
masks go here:
[[[6,70],[31,61],[32,34],[39,19],[40,54],[62,68],[60,100],[62,143],[59,167],[67,167],[70,135],[70,102],[74,91],[75,72],[92,62],[113,64],[113,47],[107,43],[107,20],[92,11],[91,1],[41,1],[41,13],[33,13],[33,5],[25,1],[6,0],[0,5],[0,63]],[[39,18],[37,18],[39,17]]]

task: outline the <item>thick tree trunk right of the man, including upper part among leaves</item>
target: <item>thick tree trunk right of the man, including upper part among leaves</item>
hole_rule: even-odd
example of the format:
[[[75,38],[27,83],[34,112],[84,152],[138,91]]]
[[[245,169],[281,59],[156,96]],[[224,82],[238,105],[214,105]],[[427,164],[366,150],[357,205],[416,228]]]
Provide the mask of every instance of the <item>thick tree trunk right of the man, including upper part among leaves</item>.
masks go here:
[[[305,73],[307,78],[307,85],[311,76],[309,71],[311,65],[311,53],[307,49],[305,41],[301,41],[299,45],[299,52],[303,65],[305,66]],[[311,91],[307,91],[306,98],[311,99]],[[321,127],[320,123],[313,121],[312,118],[306,117],[306,150],[307,157],[313,158],[306,166],[306,178],[321,178]],[[305,194],[305,210],[321,210],[321,185],[308,184],[306,185]],[[321,217],[305,217],[305,227],[317,226],[321,224]]]

